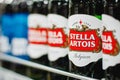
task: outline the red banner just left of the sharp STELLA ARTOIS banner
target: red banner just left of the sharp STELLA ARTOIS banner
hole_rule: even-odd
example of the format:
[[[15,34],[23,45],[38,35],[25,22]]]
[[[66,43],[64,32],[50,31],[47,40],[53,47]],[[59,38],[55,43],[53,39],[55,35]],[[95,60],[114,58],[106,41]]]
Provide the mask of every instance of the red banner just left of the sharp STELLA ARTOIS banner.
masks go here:
[[[48,30],[48,44],[53,47],[68,46],[68,37],[62,28]]]

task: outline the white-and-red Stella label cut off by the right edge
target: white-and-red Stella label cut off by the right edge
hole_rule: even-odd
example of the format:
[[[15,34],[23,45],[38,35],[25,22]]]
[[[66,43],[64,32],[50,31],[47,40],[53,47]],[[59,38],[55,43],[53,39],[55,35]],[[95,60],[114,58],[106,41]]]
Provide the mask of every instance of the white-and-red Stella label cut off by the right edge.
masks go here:
[[[120,63],[120,21],[106,14],[102,15],[102,21],[103,69],[107,69]]]

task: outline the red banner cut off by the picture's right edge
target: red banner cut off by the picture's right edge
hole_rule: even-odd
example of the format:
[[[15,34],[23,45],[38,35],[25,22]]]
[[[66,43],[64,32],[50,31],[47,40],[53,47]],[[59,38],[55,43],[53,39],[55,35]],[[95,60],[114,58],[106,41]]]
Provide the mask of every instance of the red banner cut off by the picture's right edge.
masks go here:
[[[102,33],[102,51],[104,54],[117,55],[119,53],[119,44],[112,31]]]

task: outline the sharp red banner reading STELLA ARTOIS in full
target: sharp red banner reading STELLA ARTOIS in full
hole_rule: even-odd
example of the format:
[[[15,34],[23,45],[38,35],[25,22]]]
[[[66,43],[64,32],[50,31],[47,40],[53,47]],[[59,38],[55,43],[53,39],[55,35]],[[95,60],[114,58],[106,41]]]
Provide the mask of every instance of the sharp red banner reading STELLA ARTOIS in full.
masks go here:
[[[77,31],[70,30],[69,48],[74,51],[99,52],[101,50],[101,39],[96,30]]]

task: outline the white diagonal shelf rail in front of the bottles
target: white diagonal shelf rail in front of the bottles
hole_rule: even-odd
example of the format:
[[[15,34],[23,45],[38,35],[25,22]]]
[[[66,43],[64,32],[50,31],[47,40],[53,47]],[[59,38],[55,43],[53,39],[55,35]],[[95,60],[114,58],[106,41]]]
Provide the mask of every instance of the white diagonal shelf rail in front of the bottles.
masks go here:
[[[48,72],[73,77],[73,78],[76,78],[76,79],[96,80],[96,79],[93,79],[93,78],[89,78],[89,77],[85,77],[85,76],[81,76],[81,75],[76,75],[76,74],[73,74],[73,73],[70,73],[70,72],[58,70],[58,69],[51,68],[51,67],[41,65],[41,64],[37,64],[37,63],[31,62],[31,61],[27,61],[27,60],[23,60],[23,59],[20,59],[20,58],[13,57],[13,56],[9,56],[9,55],[6,55],[4,53],[0,53],[0,60],[10,61],[10,62],[13,62],[13,63],[30,66],[30,67],[37,68],[37,69],[40,69],[40,70],[45,70],[45,71],[48,71]]]

